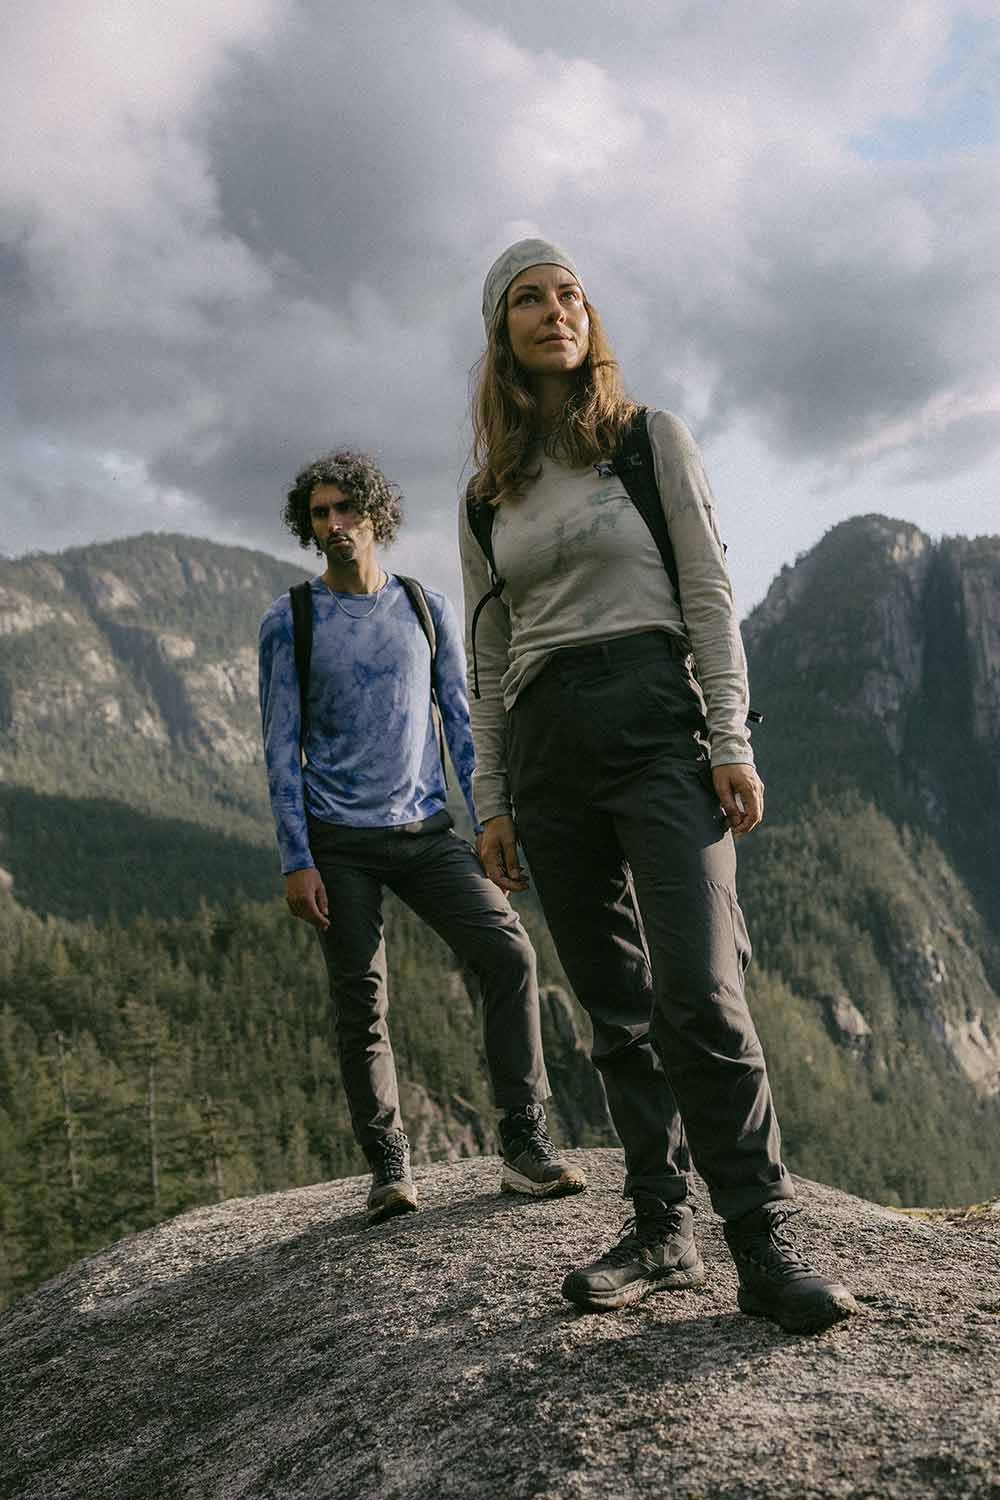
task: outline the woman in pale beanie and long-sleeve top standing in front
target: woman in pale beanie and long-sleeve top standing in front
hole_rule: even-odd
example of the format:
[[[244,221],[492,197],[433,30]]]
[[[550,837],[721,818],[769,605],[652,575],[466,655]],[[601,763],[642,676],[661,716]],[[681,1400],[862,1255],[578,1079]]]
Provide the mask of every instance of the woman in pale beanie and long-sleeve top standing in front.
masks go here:
[[[483,318],[478,470],[460,519],[469,626],[478,610],[468,645],[480,856],[501,890],[520,891],[517,842],[525,849],[594,1022],[634,1202],[624,1238],[571,1272],[564,1296],[622,1306],[703,1280],[690,1137],[726,1220],[741,1308],[786,1329],[826,1328],[856,1304],[783,1230],[793,1188],[744,998],[733,837],[760,820],[763,786],[697,447],[676,417],[643,417],[628,399],[559,246],[505,250]],[[619,477],[634,490],[643,462],[663,552],[649,528],[660,516],[643,520]]]

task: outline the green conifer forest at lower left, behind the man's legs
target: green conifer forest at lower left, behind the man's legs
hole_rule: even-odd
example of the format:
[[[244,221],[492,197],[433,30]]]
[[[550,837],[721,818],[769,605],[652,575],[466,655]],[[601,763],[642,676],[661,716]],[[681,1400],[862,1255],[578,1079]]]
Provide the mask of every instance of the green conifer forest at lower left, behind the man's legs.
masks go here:
[[[531,914],[561,1137],[606,1106]],[[417,1158],[495,1149],[475,986],[391,897],[393,1047]],[[0,894],[0,1299],[213,1198],[366,1170],[310,928],[283,903],[67,922]]]

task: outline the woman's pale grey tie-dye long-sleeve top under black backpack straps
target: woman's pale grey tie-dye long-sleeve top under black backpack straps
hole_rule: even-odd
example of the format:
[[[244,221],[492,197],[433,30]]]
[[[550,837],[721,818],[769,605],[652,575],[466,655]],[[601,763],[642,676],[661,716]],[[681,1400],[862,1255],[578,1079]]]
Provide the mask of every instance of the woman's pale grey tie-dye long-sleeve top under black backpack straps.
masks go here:
[[[712,765],[753,764],[747,730],[747,657],[702,456],[685,424],[651,411],[649,440],[678,562],[678,598],[649,528],[618,476],[540,456],[526,492],[498,507],[493,555],[505,588],[480,615],[480,699],[471,700],[480,822],[511,810],[505,716],[553,651],[642,630],[669,630],[694,652],[705,693]],[[466,652],[472,610],[490,588],[465,501],[459,548]]]

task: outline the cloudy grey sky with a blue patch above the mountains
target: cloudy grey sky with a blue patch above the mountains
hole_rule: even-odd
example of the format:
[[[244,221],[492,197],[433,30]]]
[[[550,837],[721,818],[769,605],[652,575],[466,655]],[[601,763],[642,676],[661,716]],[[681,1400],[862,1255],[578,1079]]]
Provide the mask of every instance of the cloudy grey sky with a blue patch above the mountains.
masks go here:
[[[834,522],[1000,531],[1000,0],[37,0],[0,58],[0,550],[285,548],[336,442],[457,596],[480,288],[576,255],[741,604]]]

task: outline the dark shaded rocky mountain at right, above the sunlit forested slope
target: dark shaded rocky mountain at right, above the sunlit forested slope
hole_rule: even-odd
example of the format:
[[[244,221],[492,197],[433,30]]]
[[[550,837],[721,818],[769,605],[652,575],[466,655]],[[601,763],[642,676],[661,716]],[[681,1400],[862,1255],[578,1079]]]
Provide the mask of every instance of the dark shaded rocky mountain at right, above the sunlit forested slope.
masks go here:
[[[780,795],[861,790],[940,842],[1000,928],[1000,537],[846,520],[781,570],[744,639]]]

